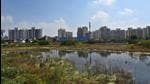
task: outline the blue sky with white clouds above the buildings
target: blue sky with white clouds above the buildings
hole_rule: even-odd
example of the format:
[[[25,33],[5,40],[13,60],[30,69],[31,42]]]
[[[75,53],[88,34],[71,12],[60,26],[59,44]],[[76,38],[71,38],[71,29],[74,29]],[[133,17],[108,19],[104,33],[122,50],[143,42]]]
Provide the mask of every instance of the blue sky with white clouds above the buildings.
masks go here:
[[[150,25],[150,0],[1,0],[1,28],[32,26],[43,29],[43,35],[57,36],[64,28],[76,36],[77,28],[88,26],[95,31],[146,27]],[[7,35],[7,34],[6,34]]]

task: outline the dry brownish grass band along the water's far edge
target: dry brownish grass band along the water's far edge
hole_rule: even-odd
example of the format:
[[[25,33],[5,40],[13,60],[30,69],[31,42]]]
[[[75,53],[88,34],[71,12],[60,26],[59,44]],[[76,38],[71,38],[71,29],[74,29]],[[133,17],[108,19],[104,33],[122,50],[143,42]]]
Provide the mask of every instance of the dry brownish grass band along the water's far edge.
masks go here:
[[[130,52],[150,52],[150,49],[134,45],[134,44],[112,44],[112,43],[99,43],[99,44],[77,44],[75,46],[61,46],[60,44],[51,44],[46,46],[30,46],[30,47],[6,47],[2,51],[16,51],[16,50],[42,50],[42,49],[74,49],[74,50],[112,50],[112,51],[130,51]]]

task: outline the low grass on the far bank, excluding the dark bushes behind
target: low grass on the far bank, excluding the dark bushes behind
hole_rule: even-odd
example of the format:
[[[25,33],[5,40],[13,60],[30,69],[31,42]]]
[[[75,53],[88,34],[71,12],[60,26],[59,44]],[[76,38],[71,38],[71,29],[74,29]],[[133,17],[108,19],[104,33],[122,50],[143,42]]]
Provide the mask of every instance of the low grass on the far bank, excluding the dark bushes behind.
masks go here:
[[[145,44],[145,43],[144,43]],[[32,43],[25,44],[9,44],[5,46],[1,46],[2,50],[6,51],[17,51],[17,50],[39,50],[39,49],[71,49],[71,50],[111,50],[111,51],[129,51],[129,52],[150,52],[150,48],[148,46],[142,46],[141,44],[119,44],[119,43],[97,43],[97,44],[86,44],[82,42],[77,42],[75,45],[67,46],[60,45],[59,43],[50,43],[49,45],[32,45]],[[147,43],[146,43],[147,44]],[[17,46],[18,45],[18,46]],[[147,44],[149,45],[149,44]]]

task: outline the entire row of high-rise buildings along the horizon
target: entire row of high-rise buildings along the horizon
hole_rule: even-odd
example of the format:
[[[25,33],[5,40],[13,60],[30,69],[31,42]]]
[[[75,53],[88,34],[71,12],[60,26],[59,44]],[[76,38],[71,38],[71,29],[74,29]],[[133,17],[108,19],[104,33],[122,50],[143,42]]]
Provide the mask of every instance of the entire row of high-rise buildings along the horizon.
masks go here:
[[[35,27],[31,27],[31,29],[18,29],[18,27],[9,29],[8,37],[3,36],[3,32],[4,31],[1,30],[2,39],[14,42],[21,42],[26,40],[32,41],[42,39],[43,37],[49,37],[42,36],[42,29],[36,29]],[[107,26],[101,26],[99,29],[91,31],[91,23],[89,22],[89,27],[78,27],[76,35],[77,37],[74,37],[72,31],[66,31],[66,29],[60,28],[58,29],[57,36],[53,38],[57,39],[57,41],[74,39],[77,41],[91,40],[100,42],[125,42],[132,37],[147,40],[150,39],[150,26],[146,26],[145,28],[138,27],[137,29],[128,28],[128,30],[123,30],[120,28],[111,30]]]

